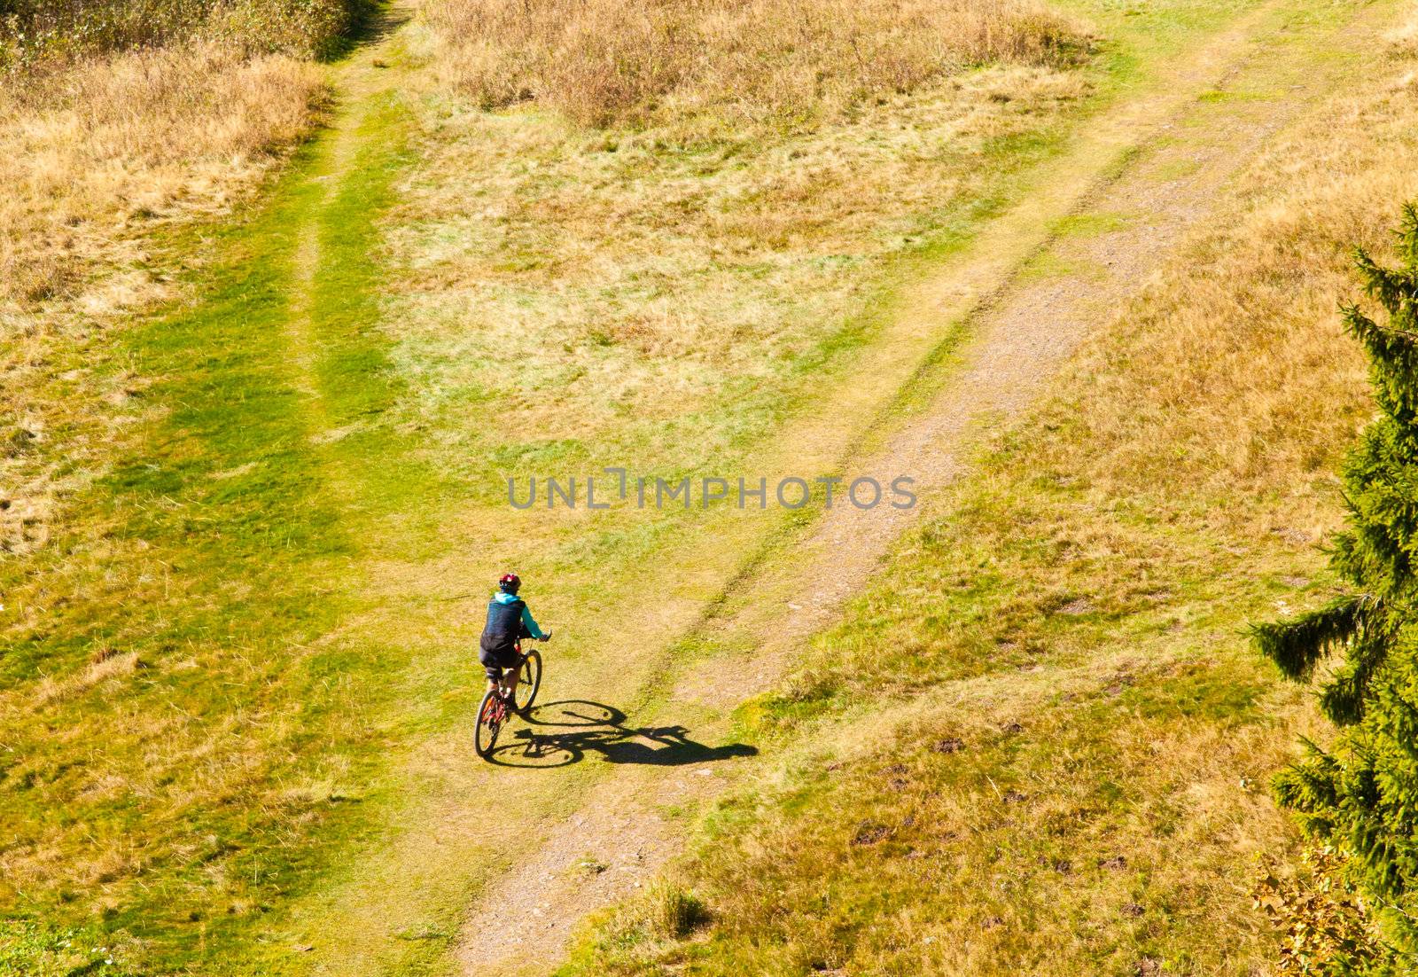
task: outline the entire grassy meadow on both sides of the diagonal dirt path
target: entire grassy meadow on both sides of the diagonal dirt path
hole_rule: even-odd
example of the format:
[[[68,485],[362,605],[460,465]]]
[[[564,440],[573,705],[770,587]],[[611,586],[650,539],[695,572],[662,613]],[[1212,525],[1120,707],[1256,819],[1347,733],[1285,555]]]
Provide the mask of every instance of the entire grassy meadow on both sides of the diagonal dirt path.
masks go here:
[[[520,516],[503,479],[781,464],[801,447],[776,442],[788,421],[861,386],[852,367],[900,292],[1048,193],[1041,164],[1157,65],[1259,7],[428,0],[366,37],[360,10],[325,3],[16,6],[0,33],[0,177],[20,189],[0,200],[0,970],[447,967],[503,865],[468,824],[505,798],[465,736],[489,566],[515,559],[539,617],[574,623],[559,675],[628,706],[664,695],[666,661],[689,654],[679,624],[793,529]],[[1326,472],[1364,413],[1326,302],[1344,294],[1341,247],[1375,240],[1402,183],[1401,77],[1258,166],[1229,230],[1090,347],[959,489],[963,518],[905,542],[892,584],[743,722],[811,750],[862,683],[883,715],[961,705],[912,719],[906,746],[727,804],[703,851],[737,856],[669,885],[708,926],[672,912],[669,930],[695,919],[669,939],[631,906],[579,966],[732,968],[783,943],[763,929],[788,920],[774,893],[838,848],[855,861],[834,905],[881,942],[804,893],[784,967],[847,966],[849,946],[909,960],[871,908],[893,912],[940,852],[963,871],[930,885],[967,886],[1003,871],[995,847],[1015,866],[1062,859],[1086,821],[1113,825],[1099,858],[1141,872],[1163,861],[1156,815],[1198,847],[1191,875],[1154,873],[1180,902],[1245,875],[1211,813],[1244,808],[1249,849],[1286,851],[1263,786],[1222,787],[1239,761],[1215,744],[1239,730],[1228,749],[1263,778],[1303,722],[1234,630],[1285,580],[1324,587]],[[869,407],[841,408],[844,442]],[[1156,491],[1163,472],[1177,492]],[[1146,569],[1144,590],[1119,560]],[[641,594],[662,621],[617,658],[611,611]],[[1181,641],[1174,620],[1200,624]],[[899,659],[871,652],[883,635]],[[1133,640],[1156,652],[1134,661]],[[973,682],[1012,683],[1020,705],[981,712]],[[1140,753],[1149,737],[1166,749]],[[967,749],[916,749],[956,739]],[[1044,749],[1056,740],[1066,757]],[[518,790],[552,817],[598,776]],[[990,784],[1005,780],[1025,798],[1001,818]],[[929,807],[942,797],[949,814]],[[868,801],[871,841],[854,845],[861,825],[828,814]],[[917,803],[917,825],[929,811],[978,831],[910,835]],[[1046,851],[1029,841],[1044,822]],[[1055,872],[1072,882],[940,899],[906,932],[974,961],[986,950],[961,933],[995,916],[1031,913],[1044,947],[1088,919],[1083,951],[1132,966],[1133,944],[1106,949],[1122,937],[1105,909],[1133,876],[1071,862],[1106,898]],[[1259,925],[1211,905],[1198,966],[1211,937],[1261,959]],[[1181,925],[1129,919],[1156,940]],[[1024,953],[1024,930],[991,923],[986,956]]]

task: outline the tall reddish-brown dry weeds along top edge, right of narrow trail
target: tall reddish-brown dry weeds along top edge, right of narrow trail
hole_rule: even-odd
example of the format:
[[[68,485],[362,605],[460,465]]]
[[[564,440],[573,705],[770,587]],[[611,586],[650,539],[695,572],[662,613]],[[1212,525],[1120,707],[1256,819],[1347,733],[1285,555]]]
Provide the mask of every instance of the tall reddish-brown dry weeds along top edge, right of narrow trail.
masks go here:
[[[798,123],[971,65],[1059,65],[1078,28],[1032,0],[431,0],[445,81],[590,125],[705,113]]]

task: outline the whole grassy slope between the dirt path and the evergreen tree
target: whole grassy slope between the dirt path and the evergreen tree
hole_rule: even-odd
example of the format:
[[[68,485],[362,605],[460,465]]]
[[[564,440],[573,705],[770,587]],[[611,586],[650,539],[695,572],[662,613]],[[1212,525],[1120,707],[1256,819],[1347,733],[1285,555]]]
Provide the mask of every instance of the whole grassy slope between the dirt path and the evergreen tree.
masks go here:
[[[1327,732],[1245,627],[1334,593],[1334,471],[1373,411],[1337,308],[1412,193],[1412,35],[740,710],[784,760],[563,973],[1278,971],[1256,879],[1306,869],[1268,781]]]

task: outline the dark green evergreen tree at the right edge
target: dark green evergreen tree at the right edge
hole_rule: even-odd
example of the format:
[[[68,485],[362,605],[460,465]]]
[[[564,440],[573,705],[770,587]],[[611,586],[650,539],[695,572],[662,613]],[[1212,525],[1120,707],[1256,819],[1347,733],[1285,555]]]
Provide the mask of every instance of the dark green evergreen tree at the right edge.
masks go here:
[[[1387,313],[1357,305],[1344,323],[1368,352],[1380,415],[1343,468],[1349,519],[1332,566],[1347,593],[1307,614],[1254,628],[1261,651],[1310,681],[1333,652],[1320,703],[1340,726],[1329,752],[1276,777],[1282,805],[1313,837],[1350,855],[1354,882],[1380,910],[1400,954],[1418,966],[1418,207],[1398,231],[1401,268],[1356,252],[1364,289]]]

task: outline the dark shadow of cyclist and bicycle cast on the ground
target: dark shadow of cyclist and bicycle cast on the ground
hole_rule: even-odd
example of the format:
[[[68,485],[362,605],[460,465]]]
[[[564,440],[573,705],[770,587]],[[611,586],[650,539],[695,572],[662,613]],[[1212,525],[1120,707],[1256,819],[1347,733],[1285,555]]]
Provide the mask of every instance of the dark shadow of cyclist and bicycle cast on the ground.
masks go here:
[[[495,749],[488,760],[503,767],[564,767],[598,753],[607,763],[645,763],[678,767],[730,757],[754,756],[746,743],[705,746],[689,739],[683,726],[625,725],[625,713],[587,699],[564,699],[532,708],[525,729]]]

